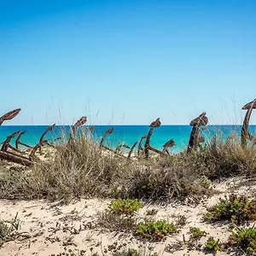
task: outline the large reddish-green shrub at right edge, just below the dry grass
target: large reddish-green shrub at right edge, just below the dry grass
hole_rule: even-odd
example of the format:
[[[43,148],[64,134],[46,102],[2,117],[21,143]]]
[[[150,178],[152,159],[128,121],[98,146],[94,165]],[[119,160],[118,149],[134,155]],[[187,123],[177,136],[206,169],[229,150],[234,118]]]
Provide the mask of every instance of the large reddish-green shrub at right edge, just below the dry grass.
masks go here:
[[[209,208],[204,215],[205,220],[218,221],[222,219],[231,219],[236,224],[245,220],[256,219],[256,200],[248,200],[243,195],[230,195],[229,198],[220,200],[220,202]]]

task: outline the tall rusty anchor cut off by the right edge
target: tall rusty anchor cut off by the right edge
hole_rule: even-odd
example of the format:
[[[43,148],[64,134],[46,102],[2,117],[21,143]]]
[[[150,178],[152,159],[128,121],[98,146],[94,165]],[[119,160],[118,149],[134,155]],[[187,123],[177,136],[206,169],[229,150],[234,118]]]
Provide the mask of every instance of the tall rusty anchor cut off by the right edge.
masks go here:
[[[253,109],[256,108],[256,99],[253,100],[253,102],[247,103],[245,106],[243,106],[241,109],[247,110],[246,116],[243,121],[243,125],[241,128],[241,145],[242,147],[247,146],[247,140],[250,140],[253,144],[256,143],[256,138],[253,137],[253,135],[248,131],[249,122],[251,115],[253,113]]]

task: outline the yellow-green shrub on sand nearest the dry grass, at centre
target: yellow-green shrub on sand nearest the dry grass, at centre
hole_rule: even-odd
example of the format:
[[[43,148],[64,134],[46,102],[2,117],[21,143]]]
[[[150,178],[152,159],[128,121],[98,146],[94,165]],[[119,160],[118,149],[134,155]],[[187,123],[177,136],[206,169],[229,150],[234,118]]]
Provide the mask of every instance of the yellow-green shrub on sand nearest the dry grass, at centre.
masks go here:
[[[109,210],[116,214],[133,214],[138,209],[142,208],[143,204],[137,199],[121,199],[110,202]]]

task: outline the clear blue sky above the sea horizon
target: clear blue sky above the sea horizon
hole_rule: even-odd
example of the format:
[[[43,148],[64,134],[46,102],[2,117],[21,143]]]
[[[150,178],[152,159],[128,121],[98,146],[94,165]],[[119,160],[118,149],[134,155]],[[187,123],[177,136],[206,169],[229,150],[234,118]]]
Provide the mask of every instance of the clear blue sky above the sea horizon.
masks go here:
[[[253,0],[0,0],[0,114],[240,124],[256,97],[255,24]]]

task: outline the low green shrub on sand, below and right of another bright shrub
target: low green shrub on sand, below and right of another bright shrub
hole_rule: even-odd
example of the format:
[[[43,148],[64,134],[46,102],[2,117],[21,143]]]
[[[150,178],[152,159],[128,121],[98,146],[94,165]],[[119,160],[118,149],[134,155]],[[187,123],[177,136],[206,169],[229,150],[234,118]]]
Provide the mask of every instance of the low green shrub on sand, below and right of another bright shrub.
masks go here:
[[[165,236],[177,233],[177,227],[166,220],[146,221],[137,226],[137,234],[150,241],[161,241]]]

